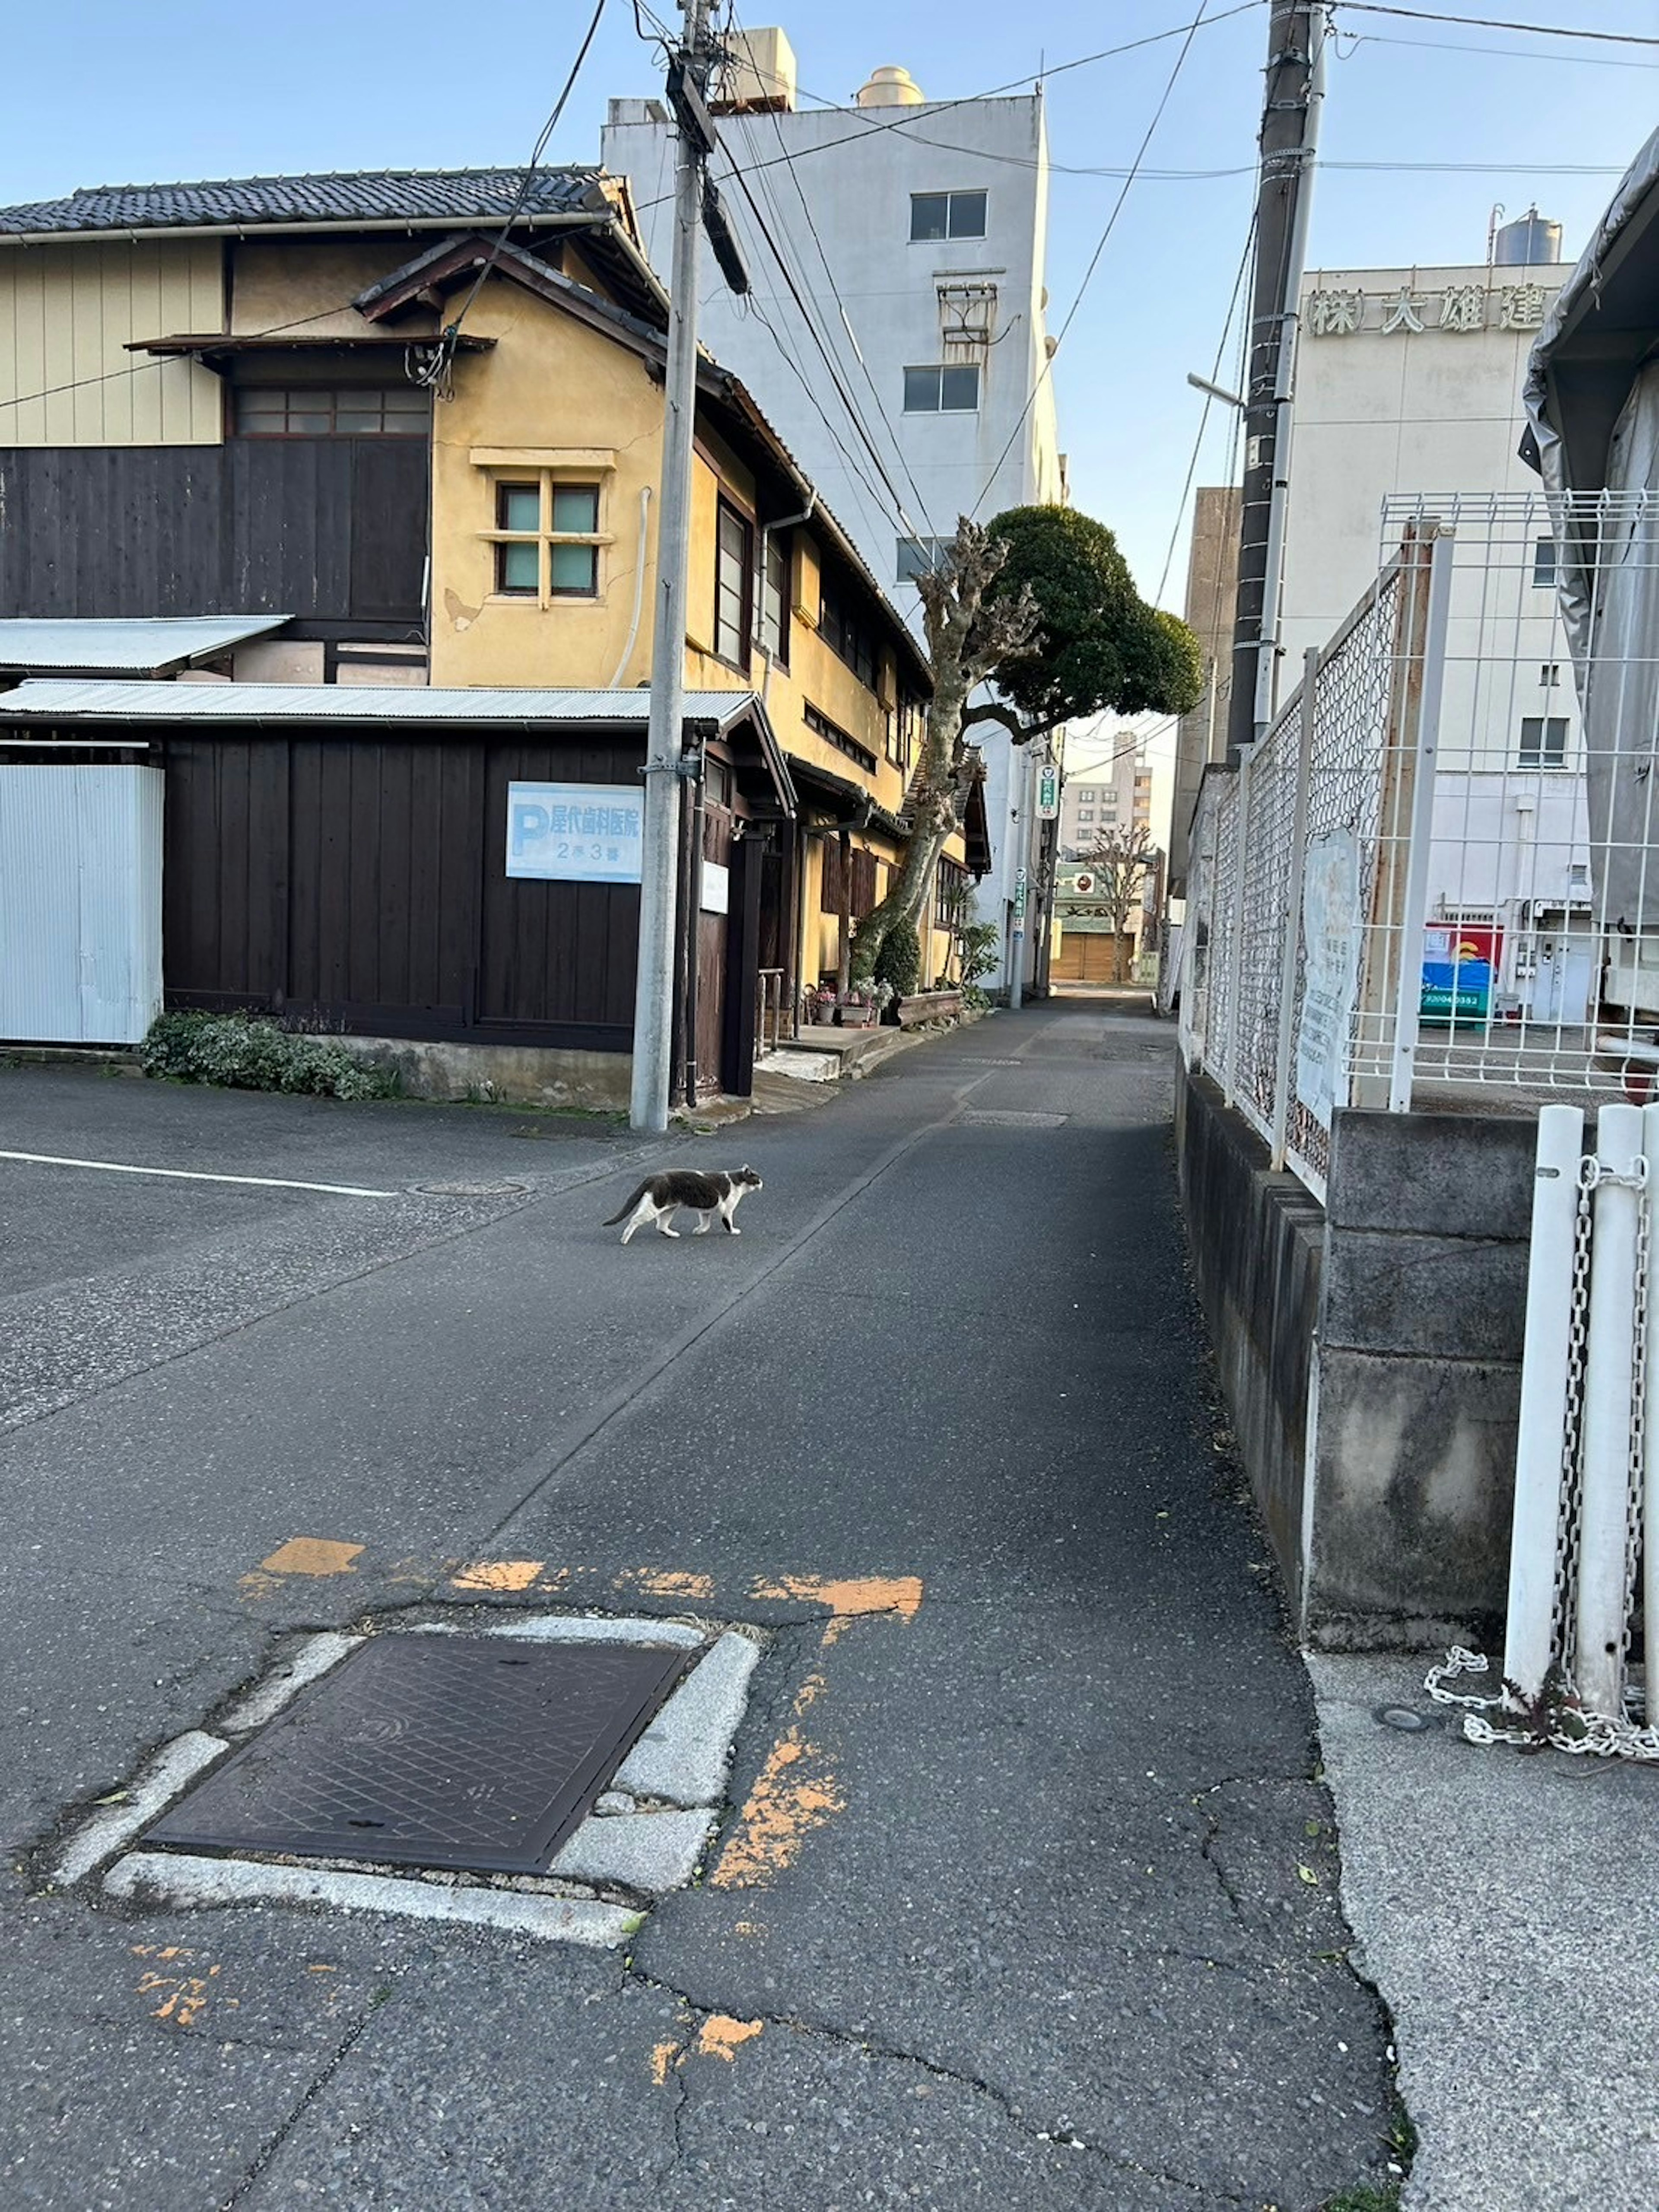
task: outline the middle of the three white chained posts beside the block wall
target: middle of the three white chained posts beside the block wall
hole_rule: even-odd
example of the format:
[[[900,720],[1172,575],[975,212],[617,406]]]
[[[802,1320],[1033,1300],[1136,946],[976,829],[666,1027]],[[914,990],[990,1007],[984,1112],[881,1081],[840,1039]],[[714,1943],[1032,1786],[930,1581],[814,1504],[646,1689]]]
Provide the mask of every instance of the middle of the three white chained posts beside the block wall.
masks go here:
[[[1641,1152],[1641,1108],[1604,1106],[1595,1157],[1630,1175]],[[1590,1237],[1590,1323],[1584,1352],[1584,1506],[1579,1517],[1577,1692],[1590,1712],[1617,1714],[1624,1694],[1624,1551],[1630,1495],[1632,1292],[1637,1203],[1630,1183],[1597,1183]]]

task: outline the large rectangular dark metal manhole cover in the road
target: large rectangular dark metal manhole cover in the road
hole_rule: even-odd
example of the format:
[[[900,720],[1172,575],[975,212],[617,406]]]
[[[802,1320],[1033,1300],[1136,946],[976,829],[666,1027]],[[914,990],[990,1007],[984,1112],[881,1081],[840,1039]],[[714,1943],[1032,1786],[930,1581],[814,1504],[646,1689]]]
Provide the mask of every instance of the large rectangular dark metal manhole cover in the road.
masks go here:
[[[535,1874],[684,1666],[639,1644],[374,1637],[144,1843]]]

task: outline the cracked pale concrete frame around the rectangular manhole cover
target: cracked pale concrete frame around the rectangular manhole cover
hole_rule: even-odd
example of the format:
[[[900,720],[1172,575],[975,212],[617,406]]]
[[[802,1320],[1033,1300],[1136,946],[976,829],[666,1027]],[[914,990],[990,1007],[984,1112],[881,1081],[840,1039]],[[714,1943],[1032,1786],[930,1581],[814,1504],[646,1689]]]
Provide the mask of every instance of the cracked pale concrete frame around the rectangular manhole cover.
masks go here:
[[[208,1767],[257,1734],[299,1692],[336,1668],[365,1635],[491,1635],[571,1644],[666,1644],[697,1650],[611,1787],[553,1863],[535,1876],[380,1871],[361,1860],[195,1856],[131,1849]],[[684,1889],[708,1851],[726,1805],[732,1743],[761,1659],[761,1632],[646,1615],[498,1613],[369,1626],[363,1635],[314,1635],[241,1697],[215,1730],[166,1743],[100,1805],[60,1849],[51,1880],[62,1889],[102,1876],[106,1896],[135,1905],[321,1905],[414,1920],[511,1929],[555,1942],[611,1949],[637,1933],[650,1907]]]

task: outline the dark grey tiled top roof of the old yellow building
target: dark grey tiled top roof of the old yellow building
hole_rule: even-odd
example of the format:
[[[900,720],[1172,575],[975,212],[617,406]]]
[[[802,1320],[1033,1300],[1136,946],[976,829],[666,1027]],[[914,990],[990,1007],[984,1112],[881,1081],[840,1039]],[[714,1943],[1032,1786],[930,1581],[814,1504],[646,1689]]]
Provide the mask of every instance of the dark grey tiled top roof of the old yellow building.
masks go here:
[[[604,212],[595,168],[538,168],[524,217]],[[330,177],[230,177],[217,184],[100,184],[64,199],[0,208],[0,234],[53,230],[188,230],[197,223],[500,221],[522,168],[372,168]]]

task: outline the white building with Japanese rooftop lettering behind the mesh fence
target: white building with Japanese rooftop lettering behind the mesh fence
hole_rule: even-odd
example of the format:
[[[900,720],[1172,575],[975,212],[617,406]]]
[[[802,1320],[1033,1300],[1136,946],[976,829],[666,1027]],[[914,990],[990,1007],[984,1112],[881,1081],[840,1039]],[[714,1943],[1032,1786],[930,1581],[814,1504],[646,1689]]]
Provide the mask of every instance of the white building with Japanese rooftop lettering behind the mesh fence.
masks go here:
[[[1458,268],[1316,270],[1301,294],[1279,697],[1398,546],[1455,529],[1429,956],[1493,960],[1493,1009],[1577,1024],[1593,980],[1588,821],[1548,524],[1509,542],[1526,356],[1562,285],[1537,215]],[[1542,515],[1542,502],[1533,509]]]

